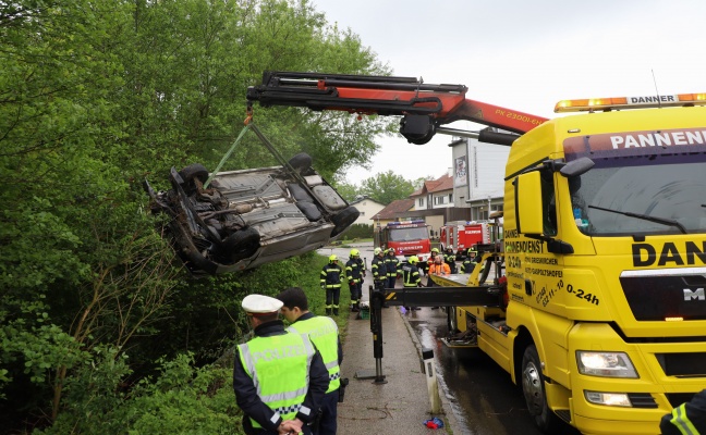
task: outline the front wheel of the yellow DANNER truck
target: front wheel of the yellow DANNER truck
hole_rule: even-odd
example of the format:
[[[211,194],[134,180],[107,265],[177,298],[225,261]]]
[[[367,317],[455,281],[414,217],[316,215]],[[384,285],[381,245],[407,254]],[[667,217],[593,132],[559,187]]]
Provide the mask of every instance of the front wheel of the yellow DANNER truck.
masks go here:
[[[547,403],[545,378],[535,345],[527,346],[522,356],[522,391],[535,425],[545,434],[559,433],[561,420],[549,409]]]

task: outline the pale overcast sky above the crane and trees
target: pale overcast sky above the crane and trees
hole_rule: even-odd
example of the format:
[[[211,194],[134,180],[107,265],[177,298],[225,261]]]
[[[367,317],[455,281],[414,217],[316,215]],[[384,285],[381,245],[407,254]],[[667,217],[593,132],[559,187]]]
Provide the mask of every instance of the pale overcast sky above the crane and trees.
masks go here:
[[[562,99],[654,95],[655,79],[662,95],[706,92],[704,0],[311,1],[394,75],[465,85],[470,99],[545,117]],[[346,178],[438,177],[451,165],[450,141],[381,138],[373,170]]]

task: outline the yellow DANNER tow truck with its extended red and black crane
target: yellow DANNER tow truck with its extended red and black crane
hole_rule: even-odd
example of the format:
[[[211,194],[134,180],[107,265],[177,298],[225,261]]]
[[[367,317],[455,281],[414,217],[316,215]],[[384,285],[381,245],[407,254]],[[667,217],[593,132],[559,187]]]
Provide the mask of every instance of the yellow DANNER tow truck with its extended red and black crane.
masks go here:
[[[583,434],[659,434],[706,387],[706,95],[567,100],[555,111],[575,114],[545,120],[464,94],[271,73],[248,99],[400,115],[414,144],[457,120],[510,132],[471,136],[511,146],[502,239],[482,247],[483,271],[434,276],[443,291],[405,291],[405,304],[451,306],[452,338],[522,386],[545,433],[563,420]]]

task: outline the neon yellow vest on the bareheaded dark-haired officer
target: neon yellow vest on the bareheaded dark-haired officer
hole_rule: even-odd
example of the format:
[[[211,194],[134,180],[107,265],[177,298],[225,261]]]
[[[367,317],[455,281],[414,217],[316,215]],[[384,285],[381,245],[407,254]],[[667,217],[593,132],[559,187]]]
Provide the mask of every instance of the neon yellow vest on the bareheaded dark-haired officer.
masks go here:
[[[341,385],[341,368],[339,366],[339,339],[338,325],[331,318],[315,315],[306,320],[294,322],[287,331],[306,334],[321,352],[324,364],[329,372],[329,387],[326,393],[331,393]]]

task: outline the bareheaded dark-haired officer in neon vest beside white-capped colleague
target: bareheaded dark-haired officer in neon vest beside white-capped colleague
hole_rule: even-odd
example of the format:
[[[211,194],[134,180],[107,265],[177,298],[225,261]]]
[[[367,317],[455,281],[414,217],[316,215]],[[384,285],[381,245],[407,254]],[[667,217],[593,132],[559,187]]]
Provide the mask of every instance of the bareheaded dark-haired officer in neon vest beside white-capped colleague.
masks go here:
[[[321,352],[324,364],[328,369],[329,384],[321,402],[318,424],[314,425],[314,434],[333,435],[337,431],[336,415],[341,386],[341,362],[343,361],[338,326],[331,318],[311,313],[306,295],[299,287],[283,290],[277,296],[277,299],[282,301],[282,314],[291,324],[287,331],[308,335]]]

